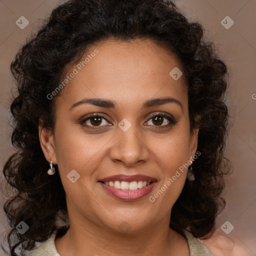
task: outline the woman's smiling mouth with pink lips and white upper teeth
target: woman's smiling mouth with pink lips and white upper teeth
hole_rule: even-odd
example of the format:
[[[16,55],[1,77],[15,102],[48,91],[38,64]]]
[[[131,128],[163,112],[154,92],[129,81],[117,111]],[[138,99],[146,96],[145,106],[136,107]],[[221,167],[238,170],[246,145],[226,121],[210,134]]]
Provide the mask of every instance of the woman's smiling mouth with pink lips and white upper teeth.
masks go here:
[[[157,180],[137,174],[108,176],[98,182],[111,196],[120,200],[131,201],[146,196],[157,183]]]

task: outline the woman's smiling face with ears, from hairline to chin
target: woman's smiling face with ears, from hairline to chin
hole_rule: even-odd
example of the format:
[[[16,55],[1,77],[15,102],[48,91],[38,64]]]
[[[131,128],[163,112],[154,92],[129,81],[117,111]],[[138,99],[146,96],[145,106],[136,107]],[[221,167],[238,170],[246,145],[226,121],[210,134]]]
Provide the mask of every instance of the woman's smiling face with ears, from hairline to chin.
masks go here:
[[[54,135],[40,135],[45,157],[58,165],[70,224],[136,231],[169,221],[186,178],[180,166],[195,153],[198,132],[189,129],[179,62],[138,39],[101,41],[86,57],[66,72]]]

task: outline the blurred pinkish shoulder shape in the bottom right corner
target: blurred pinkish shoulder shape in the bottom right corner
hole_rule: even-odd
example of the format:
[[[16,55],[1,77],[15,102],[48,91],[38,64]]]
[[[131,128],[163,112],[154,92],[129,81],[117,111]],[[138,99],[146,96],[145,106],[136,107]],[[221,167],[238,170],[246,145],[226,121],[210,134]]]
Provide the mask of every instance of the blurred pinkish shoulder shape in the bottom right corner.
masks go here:
[[[250,256],[249,251],[235,238],[234,240],[221,234],[213,234],[208,239],[198,239],[214,256]]]

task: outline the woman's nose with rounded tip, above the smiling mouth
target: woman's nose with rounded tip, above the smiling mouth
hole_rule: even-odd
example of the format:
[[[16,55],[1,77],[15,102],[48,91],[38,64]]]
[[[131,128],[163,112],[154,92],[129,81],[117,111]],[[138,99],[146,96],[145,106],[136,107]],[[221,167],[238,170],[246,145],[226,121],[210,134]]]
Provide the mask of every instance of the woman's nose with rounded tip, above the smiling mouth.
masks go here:
[[[149,148],[144,137],[135,131],[133,125],[123,131],[117,127],[114,143],[110,149],[110,158],[114,162],[121,162],[125,166],[135,166],[147,161]]]

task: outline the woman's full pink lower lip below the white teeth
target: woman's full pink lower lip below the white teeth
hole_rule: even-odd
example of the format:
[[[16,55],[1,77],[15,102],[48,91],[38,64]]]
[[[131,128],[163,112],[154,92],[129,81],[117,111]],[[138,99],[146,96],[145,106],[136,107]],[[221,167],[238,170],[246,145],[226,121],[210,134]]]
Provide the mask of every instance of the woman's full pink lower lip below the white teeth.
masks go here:
[[[156,184],[157,181],[151,182],[147,186],[143,186],[142,188],[138,188],[136,190],[129,190],[129,189],[119,189],[112,186],[107,186],[102,182],[99,182],[100,185],[107,191],[109,194],[113,195],[115,198],[124,200],[124,201],[133,201],[138,200],[145,195],[147,195]]]

